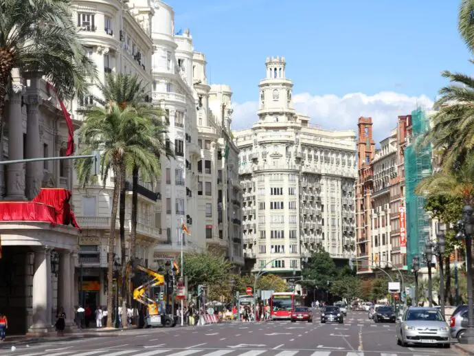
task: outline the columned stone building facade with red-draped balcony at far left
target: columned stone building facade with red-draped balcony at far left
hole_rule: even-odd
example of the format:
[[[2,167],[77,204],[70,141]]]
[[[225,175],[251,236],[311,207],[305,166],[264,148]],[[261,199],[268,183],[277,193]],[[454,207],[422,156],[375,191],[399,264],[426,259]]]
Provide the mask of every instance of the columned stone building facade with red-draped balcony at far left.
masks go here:
[[[18,71],[12,75],[2,160],[64,155],[68,131],[58,98],[45,80]],[[58,307],[74,315],[77,288],[71,276],[79,232],[52,220],[69,203],[57,205],[56,210],[52,202],[41,201],[41,188],[65,188],[61,194],[68,197],[71,165],[43,161],[1,167],[0,309],[8,315],[8,333],[53,331]]]

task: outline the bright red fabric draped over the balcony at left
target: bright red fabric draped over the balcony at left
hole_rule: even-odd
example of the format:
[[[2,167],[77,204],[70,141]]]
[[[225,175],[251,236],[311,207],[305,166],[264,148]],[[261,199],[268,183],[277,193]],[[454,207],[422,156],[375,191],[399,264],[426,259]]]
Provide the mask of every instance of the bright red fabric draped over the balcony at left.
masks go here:
[[[0,221],[48,221],[80,229],[64,188],[41,188],[32,201],[1,201]]]

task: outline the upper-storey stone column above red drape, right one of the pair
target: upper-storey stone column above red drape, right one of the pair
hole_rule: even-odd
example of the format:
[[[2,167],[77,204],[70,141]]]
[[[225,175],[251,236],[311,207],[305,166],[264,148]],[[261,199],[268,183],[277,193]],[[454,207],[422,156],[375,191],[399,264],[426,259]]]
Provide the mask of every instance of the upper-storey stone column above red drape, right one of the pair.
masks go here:
[[[27,93],[26,158],[43,157],[43,149],[41,148],[40,142],[38,82],[38,78],[31,78],[30,89],[28,89]],[[29,200],[38,195],[41,187],[41,179],[43,179],[43,166],[44,162],[41,161],[26,164],[26,194]]]

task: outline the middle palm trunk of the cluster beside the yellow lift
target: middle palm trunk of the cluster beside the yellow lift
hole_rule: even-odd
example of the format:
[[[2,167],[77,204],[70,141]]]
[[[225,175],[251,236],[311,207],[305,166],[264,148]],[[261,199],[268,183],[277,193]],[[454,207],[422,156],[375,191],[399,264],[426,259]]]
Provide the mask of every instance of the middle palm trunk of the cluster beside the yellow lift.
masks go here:
[[[125,171],[125,164],[122,162],[120,164],[120,211],[119,211],[119,220],[120,220],[120,250],[122,252],[122,288],[121,288],[121,296],[122,296],[122,325],[126,327],[127,318],[126,318],[126,267],[127,267],[127,260],[126,260],[126,247],[125,247],[125,199],[126,199],[126,171]]]

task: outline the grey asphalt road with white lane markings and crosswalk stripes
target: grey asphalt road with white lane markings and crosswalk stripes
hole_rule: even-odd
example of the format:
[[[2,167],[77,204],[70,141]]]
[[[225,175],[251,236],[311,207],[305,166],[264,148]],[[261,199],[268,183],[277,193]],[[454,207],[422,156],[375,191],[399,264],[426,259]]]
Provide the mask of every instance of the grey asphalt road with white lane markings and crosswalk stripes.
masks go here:
[[[349,312],[344,324],[314,322],[223,323],[125,331],[123,336],[19,345],[0,355],[22,356],[451,356],[455,349],[403,348],[395,324],[374,324],[366,312]],[[6,346],[6,345],[5,345]],[[10,347],[10,346],[8,346]]]

